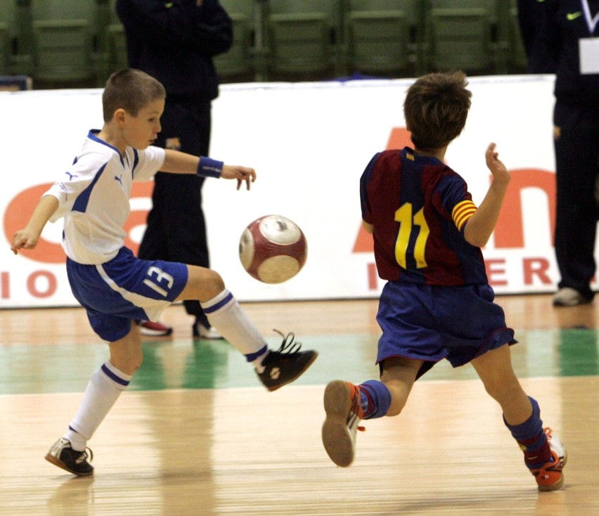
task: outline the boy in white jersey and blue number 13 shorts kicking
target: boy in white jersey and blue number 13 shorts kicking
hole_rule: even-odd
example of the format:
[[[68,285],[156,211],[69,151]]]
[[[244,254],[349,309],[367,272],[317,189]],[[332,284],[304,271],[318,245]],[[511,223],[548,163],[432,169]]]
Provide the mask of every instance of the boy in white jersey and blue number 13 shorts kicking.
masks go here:
[[[165,96],[162,84],[144,72],[112,74],[102,96],[103,128],[89,132],[75,162],[41,197],[11,245],[15,254],[32,249],[46,223],[64,217],[63,249],[72,292],[91,327],[109,343],[110,360],[91,376],[68,431],[46,455],[74,475],[93,474],[87,441],[141,365],[136,321],[157,321],[173,302],[199,299],[210,323],[255,366],[269,391],[296,380],[317,356],[316,351],[299,351],[292,334],[278,351],[269,350],[217,272],[140,260],[124,247],[132,181],[147,181],[160,170],[236,179],[238,189],[245,182],[249,190],[256,179],[252,168],[153,147]]]

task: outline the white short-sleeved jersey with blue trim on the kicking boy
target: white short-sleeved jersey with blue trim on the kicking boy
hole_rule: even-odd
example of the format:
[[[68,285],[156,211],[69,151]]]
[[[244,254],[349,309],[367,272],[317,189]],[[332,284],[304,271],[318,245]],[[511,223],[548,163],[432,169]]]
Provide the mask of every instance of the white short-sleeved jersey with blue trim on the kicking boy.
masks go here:
[[[121,155],[98,132],[89,131],[63,179],[44,194],[58,199],[50,220],[65,218],[63,249],[79,264],[103,264],[117,255],[127,236],[131,184],[152,179],[165,162],[165,150],[154,146],[127,147]]]

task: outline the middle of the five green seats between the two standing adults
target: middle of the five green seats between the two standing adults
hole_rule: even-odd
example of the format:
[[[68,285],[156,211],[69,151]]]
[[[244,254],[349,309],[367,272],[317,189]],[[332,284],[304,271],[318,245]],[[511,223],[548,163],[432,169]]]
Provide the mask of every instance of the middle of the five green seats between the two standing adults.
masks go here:
[[[417,20],[413,0],[349,0],[345,18],[349,67],[385,76],[413,70]]]

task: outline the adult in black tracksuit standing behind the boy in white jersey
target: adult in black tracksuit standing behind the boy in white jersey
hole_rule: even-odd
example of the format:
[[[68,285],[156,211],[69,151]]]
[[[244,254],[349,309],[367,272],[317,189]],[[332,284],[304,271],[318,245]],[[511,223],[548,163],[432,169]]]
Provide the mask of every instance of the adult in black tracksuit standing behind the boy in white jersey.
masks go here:
[[[116,10],[125,28],[129,66],[152,75],[167,91],[155,145],[207,156],[212,100],[219,88],[212,58],[231,48],[231,18],[218,0],[117,0]],[[140,258],[210,266],[203,181],[187,174],[157,174]],[[195,316],[195,336],[219,337],[199,302],[184,304]],[[141,330],[150,333],[143,326]]]

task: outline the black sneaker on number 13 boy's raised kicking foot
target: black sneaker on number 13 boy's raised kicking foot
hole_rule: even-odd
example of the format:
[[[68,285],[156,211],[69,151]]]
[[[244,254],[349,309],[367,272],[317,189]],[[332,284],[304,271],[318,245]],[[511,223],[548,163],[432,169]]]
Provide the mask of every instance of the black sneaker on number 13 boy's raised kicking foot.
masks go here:
[[[294,342],[293,333],[288,333],[285,337],[280,331],[275,331],[283,337],[281,347],[276,351],[269,351],[264,357],[262,373],[256,371],[260,381],[271,392],[299,378],[318,356],[316,351],[299,351],[302,344]]]

